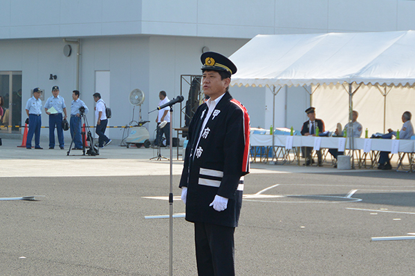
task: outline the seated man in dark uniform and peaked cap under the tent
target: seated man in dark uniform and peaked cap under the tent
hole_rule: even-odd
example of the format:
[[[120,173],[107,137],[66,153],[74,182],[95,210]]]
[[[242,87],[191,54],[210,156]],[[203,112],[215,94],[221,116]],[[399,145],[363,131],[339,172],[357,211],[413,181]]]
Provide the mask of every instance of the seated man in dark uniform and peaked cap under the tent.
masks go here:
[[[304,136],[312,135],[315,136],[317,132],[317,127],[319,129],[319,133],[324,132],[324,121],[322,119],[315,119],[315,108],[307,108],[306,109],[308,121],[305,121],[302,128],[301,134]],[[303,147],[304,157],[306,158],[306,166],[310,166],[314,163],[313,159],[311,158],[311,151],[313,148],[311,147]],[[322,151],[317,150],[317,157],[318,157],[318,166],[322,166]]]

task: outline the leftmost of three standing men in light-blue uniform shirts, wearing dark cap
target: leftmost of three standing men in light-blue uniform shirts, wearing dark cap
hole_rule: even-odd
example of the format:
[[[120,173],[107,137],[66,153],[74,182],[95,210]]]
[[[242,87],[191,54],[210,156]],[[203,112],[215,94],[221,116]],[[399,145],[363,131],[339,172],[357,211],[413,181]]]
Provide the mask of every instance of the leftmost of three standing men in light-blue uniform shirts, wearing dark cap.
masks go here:
[[[32,149],[32,139],[35,135],[35,149],[43,150],[40,146],[40,127],[42,126],[42,100],[40,88],[33,89],[33,97],[28,99],[26,103],[26,114],[29,117],[29,130],[26,139],[26,148]]]

